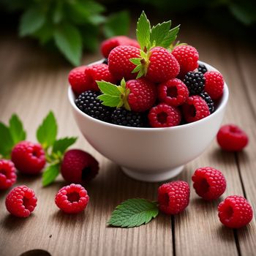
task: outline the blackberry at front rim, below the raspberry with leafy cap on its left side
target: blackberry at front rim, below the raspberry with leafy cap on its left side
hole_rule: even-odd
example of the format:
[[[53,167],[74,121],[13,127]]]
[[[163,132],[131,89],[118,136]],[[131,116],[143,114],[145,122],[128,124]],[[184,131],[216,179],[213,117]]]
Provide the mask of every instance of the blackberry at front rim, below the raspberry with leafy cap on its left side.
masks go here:
[[[143,115],[124,108],[113,110],[111,121],[124,127],[143,127]]]

